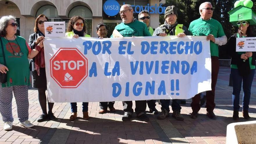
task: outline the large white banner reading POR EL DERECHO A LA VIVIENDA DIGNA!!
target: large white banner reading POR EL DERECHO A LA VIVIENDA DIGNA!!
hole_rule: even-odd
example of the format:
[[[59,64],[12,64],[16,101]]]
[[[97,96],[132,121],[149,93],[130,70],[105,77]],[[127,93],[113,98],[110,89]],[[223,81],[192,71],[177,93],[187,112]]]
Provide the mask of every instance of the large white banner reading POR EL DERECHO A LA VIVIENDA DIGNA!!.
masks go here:
[[[205,36],[45,38],[49,102],[189,99],[211,90]]]

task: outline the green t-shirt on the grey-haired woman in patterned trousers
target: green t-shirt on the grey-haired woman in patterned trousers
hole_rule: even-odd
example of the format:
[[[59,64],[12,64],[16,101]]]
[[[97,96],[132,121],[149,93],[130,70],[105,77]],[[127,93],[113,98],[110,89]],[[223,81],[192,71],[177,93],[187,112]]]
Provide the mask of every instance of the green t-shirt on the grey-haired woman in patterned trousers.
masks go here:
[[[2,87],[30,85],[30,71],[28,54],[31,49],[29,48],[26,40],[17,36],[16,40],[6,40],[0,37],[3,41],[4,55],[6,59],[6,67],[9,69],[7,72],[7,83],[2,84]],[[17,43],[18,42],[18,43]],[[10,46],[11,45],[11,46]],[[19,48],[20,46],[20,48]],[[13,48],[13,49],[12,49]],[[13,53],[22,52],[23,56],[15,56]],[[3,52],[0,48],[0,63],[4,65]]]

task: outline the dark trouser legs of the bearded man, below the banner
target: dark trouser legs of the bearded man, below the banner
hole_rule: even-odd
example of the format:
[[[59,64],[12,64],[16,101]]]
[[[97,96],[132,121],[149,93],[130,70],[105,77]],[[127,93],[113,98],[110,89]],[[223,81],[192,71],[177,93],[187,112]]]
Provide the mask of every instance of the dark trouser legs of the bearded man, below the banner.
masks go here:
[[[136,100],[135,101],[135,113],[137,115],[141,115],[145,112],[147,107],[146,100]],[[123,108],[125,112],[128,112],[129,115],[132,115],[133,109],[132,109],[132,101],[123,101]]]

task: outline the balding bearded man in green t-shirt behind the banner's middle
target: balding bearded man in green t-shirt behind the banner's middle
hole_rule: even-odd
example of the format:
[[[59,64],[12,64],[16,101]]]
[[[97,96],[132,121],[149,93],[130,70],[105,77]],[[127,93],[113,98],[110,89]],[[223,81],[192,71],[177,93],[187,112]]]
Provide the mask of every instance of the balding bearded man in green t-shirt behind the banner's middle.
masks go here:
[[[129,4],[125,4],[120,8],[120,16],[122,23],[115,26],[111,37],[132,37],[132,36],[151,36],[147,29],[147,25],[133,18],[133,9]],[[148,121],[147,115],[144,113],[147,107],[146,100],[135,101],[135,113],[142,121]],[[125,111],[122,116],[123,121],[130,120],[133,109],[132,101],[124,101],[123,109]]]

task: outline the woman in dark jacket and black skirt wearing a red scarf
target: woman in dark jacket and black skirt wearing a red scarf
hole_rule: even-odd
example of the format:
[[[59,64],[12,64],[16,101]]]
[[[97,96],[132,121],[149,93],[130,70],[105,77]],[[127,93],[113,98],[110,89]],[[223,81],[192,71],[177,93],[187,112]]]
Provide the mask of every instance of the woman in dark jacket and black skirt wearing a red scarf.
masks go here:
[[[40,42],[43,42],[45,38],[45,24],[44,22],[48,22],[48,18],[41,14],[35,19],[35,27],[34,32],[29,36],[29,46],[31,49],[35,49],[36,45]],[[37,88],[38,90],[38,100],[42,109],[42,114],[37,119],[37,122],[43,122],[46,120],[56,120],[56,117],[52,113],[52,108],[54,103],[48,102],[46,99],[45,91],[47,90],[47,82],[46,82],[46,73],[45,73],[45,58],[44,58],[44,49],[42,45],[42,51],[33,58],[33,62],[35,63],[31,66],[32,71],[32,86],[33,88]],[[48,103],[48,113],[46,108],[46,103]]]

